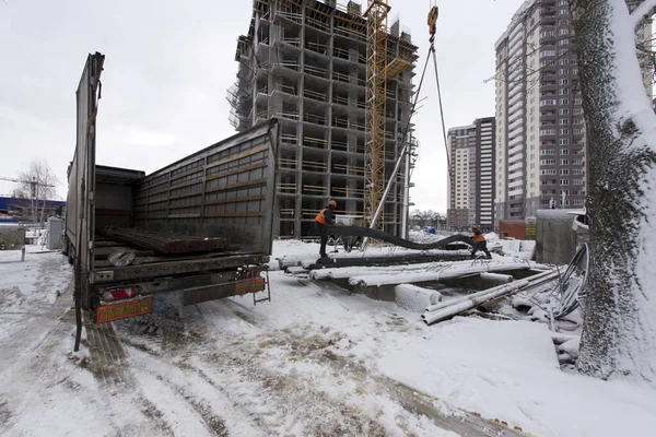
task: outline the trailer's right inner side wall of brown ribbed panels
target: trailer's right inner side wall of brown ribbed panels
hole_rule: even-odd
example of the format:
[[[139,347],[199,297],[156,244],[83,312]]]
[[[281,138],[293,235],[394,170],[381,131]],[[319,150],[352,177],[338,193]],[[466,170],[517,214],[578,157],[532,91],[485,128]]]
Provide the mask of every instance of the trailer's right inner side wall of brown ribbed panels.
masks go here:
[[[270,255],[279,129],[272,119],[138,181],[134,225]]]

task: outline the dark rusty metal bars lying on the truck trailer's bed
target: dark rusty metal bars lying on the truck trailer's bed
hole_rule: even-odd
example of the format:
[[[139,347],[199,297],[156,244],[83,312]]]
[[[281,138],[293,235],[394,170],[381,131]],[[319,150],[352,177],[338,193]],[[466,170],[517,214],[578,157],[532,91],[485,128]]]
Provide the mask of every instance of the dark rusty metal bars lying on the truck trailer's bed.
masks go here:
[[[225,238],[160,235],[138,228],[108,226],[103,228],[103,234],[160,253],[209,252],[229,250],[231,248]]]

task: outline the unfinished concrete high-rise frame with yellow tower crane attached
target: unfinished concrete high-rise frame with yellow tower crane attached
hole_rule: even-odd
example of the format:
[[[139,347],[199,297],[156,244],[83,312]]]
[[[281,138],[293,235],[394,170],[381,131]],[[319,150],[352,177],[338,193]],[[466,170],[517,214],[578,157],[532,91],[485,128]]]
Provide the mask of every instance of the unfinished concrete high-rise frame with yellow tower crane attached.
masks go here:
[[[398,21],[387,26],[388,11],[380,0],[364,10],[353,1],[254,1],[237,43],[230,119],[238,131],[281,121],[276,235],[314,235],[329,199],[366,225],[403,138],[412,141],[417,46]],[[395,235],[406,227],[410,168],[401,165],[378,220]]]

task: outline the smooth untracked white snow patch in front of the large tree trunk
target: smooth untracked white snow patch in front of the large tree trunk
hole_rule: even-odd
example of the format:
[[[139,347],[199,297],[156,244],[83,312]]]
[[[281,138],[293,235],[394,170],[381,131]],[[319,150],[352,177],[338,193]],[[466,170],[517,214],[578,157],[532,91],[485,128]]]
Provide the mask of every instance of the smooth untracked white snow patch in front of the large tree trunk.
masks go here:
[[[456,318],[379,364],[418,391],[539,436],[645,436],[656,427],[652,390],[562,371],[541,323]]]

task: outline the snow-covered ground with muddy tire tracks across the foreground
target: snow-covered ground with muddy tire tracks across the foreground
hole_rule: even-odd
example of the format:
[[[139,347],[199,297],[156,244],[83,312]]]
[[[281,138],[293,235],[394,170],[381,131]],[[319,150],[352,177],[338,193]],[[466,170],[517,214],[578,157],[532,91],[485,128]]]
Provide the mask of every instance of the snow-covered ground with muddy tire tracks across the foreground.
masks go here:
[[[546,324],[459,317],[426,327],[395,303],[282,271],[270,273],[271,303],[245,296],[107,323],[85,331],[73,354],[71,270],[60,253],[34,253],[25,262],[0,252],[0,435],[656,428],[653,390],[561,370]],[[276,257],[309,253],[318,245],[274,244]]]

